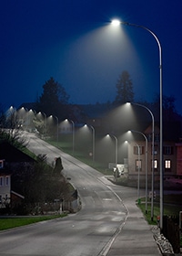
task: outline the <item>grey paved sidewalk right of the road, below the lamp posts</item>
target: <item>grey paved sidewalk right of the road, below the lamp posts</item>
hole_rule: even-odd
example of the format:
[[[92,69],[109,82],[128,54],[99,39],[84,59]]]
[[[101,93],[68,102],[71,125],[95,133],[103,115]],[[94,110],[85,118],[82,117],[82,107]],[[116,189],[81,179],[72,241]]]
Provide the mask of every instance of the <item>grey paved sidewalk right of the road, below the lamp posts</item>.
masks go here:
[[[106,256],[158,256],[162,255],[154,239],[152,227],[147,224],[136,206],[136,195],[124,199],[128,216],[125,225],[113,242]]]

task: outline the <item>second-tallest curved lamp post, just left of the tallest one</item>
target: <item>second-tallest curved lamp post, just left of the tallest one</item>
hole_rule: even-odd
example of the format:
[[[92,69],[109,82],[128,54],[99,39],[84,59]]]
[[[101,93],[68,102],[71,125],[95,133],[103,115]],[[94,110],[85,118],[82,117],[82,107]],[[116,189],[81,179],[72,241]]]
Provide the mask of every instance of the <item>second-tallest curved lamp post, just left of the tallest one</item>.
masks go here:
[[[151,220],[153,221],[153,219],[154,219],[154,135],[155,135],[155,133],[154,133],[154,114],[145,105],[142,105],[142,104],[139,104],[139,103],[133,103],[133,102],[131,104],[146,109],[150,113],[151,118],[152,118],[152,184],[151,184],[152,197],[151,197]]]

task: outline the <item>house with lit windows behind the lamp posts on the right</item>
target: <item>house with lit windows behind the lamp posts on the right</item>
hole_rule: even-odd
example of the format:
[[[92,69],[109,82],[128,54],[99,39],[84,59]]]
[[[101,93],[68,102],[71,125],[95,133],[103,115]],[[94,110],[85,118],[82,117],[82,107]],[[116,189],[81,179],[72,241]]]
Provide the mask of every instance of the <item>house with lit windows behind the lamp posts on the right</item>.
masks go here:
[[[128,178],[137,179],[138,170],[141,183],[152,179],[152,127],[148,126],[144,133],[147,143],[136,134],[135,139],[128,144]],[[160,180],[160,147],[159,129],[155,127],[154,140],[154,181],[159,184]],[[147,165],[146,165],[147,164]],[[147,170],[146,170],[147,168]],[[163,141],[163,168],[164,180],[169,177],[182,176],[182,144],[176,144],[173,140]]]

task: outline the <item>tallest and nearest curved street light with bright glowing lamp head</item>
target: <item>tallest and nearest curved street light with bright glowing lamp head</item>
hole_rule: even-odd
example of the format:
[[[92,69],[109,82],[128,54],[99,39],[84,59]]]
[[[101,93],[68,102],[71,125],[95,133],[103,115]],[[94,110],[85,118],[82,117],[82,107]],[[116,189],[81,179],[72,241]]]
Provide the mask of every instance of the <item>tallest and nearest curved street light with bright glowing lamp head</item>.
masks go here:
[[[131,27],[139,27],[142,29],[147,30],[153,37],[155,37],[158,45],[159,50],[159,70],[160,70],[160,229],[163,229],[163,110],[162,110],[162,100],[163,100],[163,93],[162,93],[162,48],[160,41],[157,35],[151,31],[149,28],[129,23],[129,22],[120,22],[119,20],[113,20],[112,24],[118,26],[119,24],[131,26]],[[153,163],[154,164],[154,163]]]

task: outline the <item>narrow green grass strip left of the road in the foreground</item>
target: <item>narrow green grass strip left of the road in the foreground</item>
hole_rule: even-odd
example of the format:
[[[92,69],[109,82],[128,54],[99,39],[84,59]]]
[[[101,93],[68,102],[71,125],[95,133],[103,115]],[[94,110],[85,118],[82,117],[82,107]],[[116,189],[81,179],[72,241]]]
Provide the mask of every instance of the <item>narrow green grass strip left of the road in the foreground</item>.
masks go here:
[[[53,215],[53,216],[21,217],[21,218],[16,218],[16,217],[2,218],[0,219],[0,230],[13,229],[13,228],[22,227],[29,224],[34,224],[40,221],[63,218],[65,216],[66,214]]]

